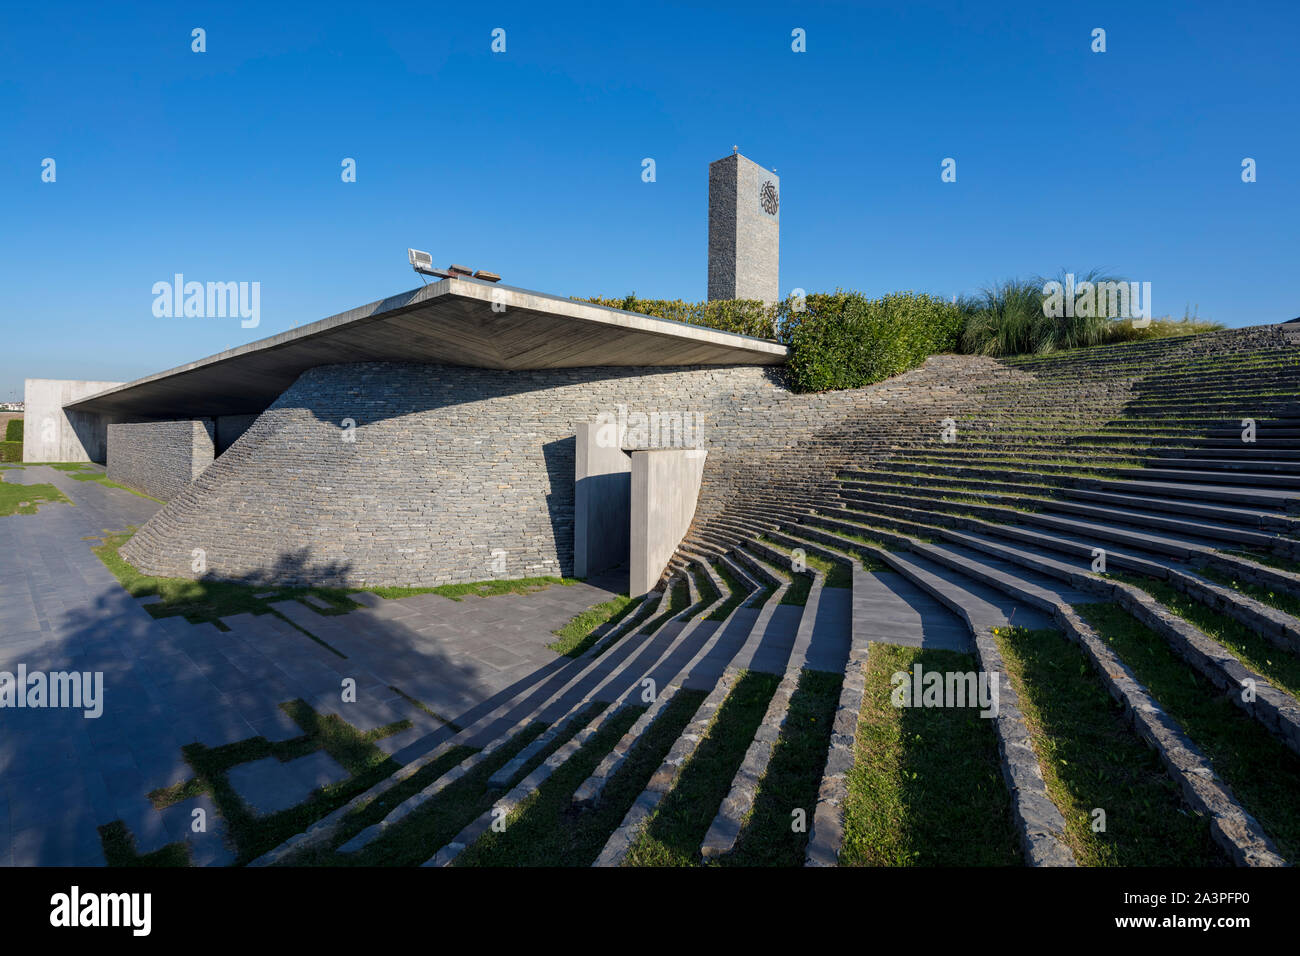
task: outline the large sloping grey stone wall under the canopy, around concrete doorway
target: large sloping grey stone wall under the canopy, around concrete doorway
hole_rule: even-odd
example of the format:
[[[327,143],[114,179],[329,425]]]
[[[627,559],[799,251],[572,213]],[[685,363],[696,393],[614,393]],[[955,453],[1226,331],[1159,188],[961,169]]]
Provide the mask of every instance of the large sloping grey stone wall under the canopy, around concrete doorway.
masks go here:
[[[580,423],[624,414],[628,444],[653,447],[672,436],[638,432],[637,412],[697,415],[708,449],[702,498],[727,499],[744,493],[745,463],[760,467],[855,406],[889,401],[870,389],[796,395],[781,376],[771,367],[313,368],[122,554],[147,574],[195,576],[202,549],[209,574],[255,583],[569,575]]]

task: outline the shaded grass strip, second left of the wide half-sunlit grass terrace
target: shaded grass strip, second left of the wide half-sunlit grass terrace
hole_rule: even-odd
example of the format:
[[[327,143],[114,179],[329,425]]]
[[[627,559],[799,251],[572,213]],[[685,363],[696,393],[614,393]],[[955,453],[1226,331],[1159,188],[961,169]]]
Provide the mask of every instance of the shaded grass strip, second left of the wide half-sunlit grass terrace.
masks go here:
[[[780,680],[775,674],[758,671],[740,676],[682,767],[676,786],[633,842],[624,865],[693,866],[701,862],[699,843],[731,790],[736,769]]]

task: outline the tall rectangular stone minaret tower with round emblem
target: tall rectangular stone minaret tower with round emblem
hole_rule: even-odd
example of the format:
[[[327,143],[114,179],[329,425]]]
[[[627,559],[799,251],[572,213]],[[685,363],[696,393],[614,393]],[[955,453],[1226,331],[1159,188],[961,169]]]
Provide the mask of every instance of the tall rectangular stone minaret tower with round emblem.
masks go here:
[[[708,164],[708,298],[780,298],[781,181],[740,152]]]

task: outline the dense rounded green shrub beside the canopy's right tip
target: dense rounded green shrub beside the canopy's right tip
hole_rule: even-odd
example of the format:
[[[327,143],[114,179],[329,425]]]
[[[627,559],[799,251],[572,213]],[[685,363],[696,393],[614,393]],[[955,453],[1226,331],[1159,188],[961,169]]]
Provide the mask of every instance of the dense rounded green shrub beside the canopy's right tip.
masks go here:
[[[965,323],[956,304],[916,293],[814,294],[805,311],[786,300],[779,313],[796,392],[857,389],[901,375],[956,351]]]

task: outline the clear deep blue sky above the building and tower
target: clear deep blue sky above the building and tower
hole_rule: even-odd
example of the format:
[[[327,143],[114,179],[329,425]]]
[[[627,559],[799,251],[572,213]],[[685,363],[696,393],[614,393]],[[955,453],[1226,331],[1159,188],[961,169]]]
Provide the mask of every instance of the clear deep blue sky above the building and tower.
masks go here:
[[[1280,1],[8,4],[0,398],[413,287],[408,246],[552,294],[703,299],[733,143],[781,177],[783,291],[1102,268],[1156,315],[1290,319],[1297,48]],[[178,272],[260,282],[260,326],[155,317]]]

